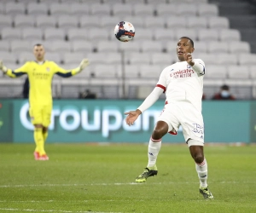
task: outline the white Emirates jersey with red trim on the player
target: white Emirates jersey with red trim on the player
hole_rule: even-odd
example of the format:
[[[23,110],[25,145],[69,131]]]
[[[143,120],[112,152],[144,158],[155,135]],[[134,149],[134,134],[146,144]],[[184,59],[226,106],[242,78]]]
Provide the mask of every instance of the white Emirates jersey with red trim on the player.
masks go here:
[[[187,61],[167,66],[161,72],[156,86],[164,89],[168,103],[189,101],[201,111],[205,63],[201,59],[193,61],[195,62],[194,66],[189,66]]]

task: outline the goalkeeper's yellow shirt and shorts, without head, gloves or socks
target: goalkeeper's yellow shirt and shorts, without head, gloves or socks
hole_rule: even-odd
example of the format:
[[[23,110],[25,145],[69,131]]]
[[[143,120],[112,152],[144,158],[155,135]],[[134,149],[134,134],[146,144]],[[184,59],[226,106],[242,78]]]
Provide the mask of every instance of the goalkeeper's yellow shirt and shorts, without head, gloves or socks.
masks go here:
[[[79,73],[79,68],[65,70],[55,62],[45,60],[42,64],[37,61],[27,61],[25,65],[6,74],[11,78],[27,74],[29,79],[29,105],[32,124],[49,126],[52,109],[51,83],[55,74],[68,78]]]

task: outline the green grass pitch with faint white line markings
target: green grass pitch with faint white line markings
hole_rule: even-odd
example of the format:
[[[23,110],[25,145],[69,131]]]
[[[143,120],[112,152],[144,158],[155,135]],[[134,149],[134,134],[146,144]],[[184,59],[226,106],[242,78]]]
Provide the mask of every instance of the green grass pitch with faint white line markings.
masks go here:
[[[207,146],[208,185],[199,193],[195,163],[182,145],[161,147],[158,176],[137,184],[147,145],[0,144],[0,212],[256,212],[256,146]]]

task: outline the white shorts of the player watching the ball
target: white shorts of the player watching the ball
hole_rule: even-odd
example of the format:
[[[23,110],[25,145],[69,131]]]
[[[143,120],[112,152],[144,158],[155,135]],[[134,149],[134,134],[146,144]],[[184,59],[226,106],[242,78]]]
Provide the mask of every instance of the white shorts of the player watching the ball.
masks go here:
[[[202,114],[191,103],[180,101],[166,104],[158,121],[164,121],[168,124],[168,132],[172,131],[172,128],[177,131],[181,125],[186,142],[189,139],[194,139],[195,141],[199,141],[199,143],[193,145],[203,146],[204,122]]]

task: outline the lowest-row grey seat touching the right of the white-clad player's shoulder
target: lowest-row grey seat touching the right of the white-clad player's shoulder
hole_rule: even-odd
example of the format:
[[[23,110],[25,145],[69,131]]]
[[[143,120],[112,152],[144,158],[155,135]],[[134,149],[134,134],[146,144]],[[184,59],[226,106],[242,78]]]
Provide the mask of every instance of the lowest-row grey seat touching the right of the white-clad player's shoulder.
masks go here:
[[[227,78],[227,68],[221,65],[207,65],[206,64],[206,73],[205,78],[218,78],[224,79]]]

